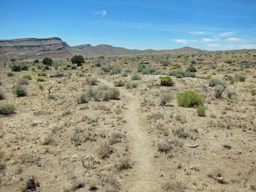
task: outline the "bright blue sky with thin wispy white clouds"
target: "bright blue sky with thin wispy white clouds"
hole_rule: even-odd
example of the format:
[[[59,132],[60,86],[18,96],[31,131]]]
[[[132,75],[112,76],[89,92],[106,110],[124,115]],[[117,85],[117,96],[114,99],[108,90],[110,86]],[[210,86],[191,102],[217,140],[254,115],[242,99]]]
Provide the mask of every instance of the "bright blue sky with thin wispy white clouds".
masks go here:
[[[256,48],[255,0],[0,0],[0,39],[58,36],[69,45]]]

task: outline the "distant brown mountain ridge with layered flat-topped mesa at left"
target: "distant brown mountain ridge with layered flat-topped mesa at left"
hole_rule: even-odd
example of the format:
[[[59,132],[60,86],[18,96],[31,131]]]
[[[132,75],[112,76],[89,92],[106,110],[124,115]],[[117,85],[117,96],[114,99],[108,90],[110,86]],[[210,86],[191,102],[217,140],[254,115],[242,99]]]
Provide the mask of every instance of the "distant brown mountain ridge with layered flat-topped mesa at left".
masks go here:
[[[111,45],[90,44],[69,46],[62,39],[53,37],[45,39],[24,38],[0,40],[0,60],[9,59],[41,59],[44,57],[51,58],[69,58],[75,54],[84,56],[93,55],[127,55],[127,54],[150,54],[163,52],[198,52],[197,48],[182,47],[170,50],[154,50],[154,49],[127,49],[124,47],[114,47]]]

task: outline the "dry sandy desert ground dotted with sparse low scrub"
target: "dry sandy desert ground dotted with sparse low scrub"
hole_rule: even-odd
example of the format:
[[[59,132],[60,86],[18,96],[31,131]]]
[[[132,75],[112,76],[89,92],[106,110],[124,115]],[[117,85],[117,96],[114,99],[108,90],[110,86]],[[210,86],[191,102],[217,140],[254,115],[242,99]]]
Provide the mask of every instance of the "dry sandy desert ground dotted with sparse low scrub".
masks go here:
[[[0,67],[0,191],[256,191],[255,49],[20,63]]]

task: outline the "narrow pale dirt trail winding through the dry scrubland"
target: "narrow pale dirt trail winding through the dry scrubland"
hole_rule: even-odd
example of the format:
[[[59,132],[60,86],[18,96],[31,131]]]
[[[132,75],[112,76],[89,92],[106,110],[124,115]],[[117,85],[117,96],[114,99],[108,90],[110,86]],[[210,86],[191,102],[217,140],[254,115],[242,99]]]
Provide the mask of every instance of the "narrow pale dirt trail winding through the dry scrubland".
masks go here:
[[[103,83],[113,86],[101,80]],[[147,123],[141,113],[139,113],[138,96],[125,88],[120,88],[120,93],[128,103],[128,110],[125,113],[127,121],[127,137],[130,141],[129,151],[131,152],[131,160],[134,162],[133,168],[129,170],[127,178],[123,180],[122,191],[125,192],[155,192],[161,191],[159,188],[160,176],[157,174],[157,159],[154,158],[154,147],[152,141],[147,134]]]

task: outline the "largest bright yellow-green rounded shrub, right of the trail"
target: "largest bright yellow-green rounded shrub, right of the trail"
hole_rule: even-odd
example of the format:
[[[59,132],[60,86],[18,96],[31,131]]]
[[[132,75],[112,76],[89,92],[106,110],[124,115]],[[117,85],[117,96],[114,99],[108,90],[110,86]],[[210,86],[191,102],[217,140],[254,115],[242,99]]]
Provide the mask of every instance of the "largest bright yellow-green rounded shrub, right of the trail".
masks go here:
[[[185,91],[178,95],[178,104],[181,107],[197,107],[204,104],[204,96],[196,91]]]

